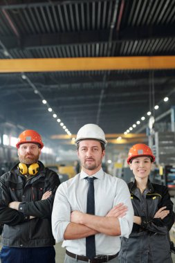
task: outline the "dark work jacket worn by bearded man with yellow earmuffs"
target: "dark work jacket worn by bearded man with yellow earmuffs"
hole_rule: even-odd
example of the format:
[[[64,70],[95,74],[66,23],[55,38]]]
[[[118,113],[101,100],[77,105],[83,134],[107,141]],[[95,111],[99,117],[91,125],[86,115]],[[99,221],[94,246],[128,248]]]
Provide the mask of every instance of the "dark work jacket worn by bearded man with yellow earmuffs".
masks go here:
[[[51,213],[59,176],[39,163],[39,172],[26,180],[16,165],[0,177],[0,223],[4,224],[2,244],[10,247],[53,246]],[[44,192],[52,195],[41,200]],[[19,210],[8,207],[12,201],[21,202]],[[30,216],[35,217],[29,219]]]

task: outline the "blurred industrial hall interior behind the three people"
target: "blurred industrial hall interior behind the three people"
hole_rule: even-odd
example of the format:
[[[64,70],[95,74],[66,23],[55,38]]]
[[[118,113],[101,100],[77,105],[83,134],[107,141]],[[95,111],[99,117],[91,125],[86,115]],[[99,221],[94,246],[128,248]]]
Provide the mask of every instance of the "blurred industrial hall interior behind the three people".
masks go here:
[[[1,174],[17,136],[35,129],[42,161],[73,176],[75,134],[95,123],[113,176],[130,180],[128,149],[147,143],[152,179],[174,197],[174,28],[174,0],[1,1]]]

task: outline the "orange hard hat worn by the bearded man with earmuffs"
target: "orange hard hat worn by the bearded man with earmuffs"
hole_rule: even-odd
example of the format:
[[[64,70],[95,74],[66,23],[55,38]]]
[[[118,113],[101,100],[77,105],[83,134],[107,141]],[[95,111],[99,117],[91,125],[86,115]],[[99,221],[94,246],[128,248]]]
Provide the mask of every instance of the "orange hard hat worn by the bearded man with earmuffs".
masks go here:
[[[42,137],[37,133],[37,131],[34,131],[33,129],[26,129],[26,131],[23,131],[21,134],[19,134],[16,147],[19,148],[21,143],[38,143],[41,146],[41,149],[44,147],[44,144],[42,143]]]

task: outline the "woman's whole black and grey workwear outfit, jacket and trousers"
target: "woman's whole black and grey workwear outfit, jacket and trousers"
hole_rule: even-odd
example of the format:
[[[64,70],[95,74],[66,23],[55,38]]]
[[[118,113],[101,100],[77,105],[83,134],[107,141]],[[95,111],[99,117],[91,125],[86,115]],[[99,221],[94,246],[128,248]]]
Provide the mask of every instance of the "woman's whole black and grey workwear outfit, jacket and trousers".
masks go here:
[[[174,212],[167,187],[148,181],[147,189],[141,194],[136,181],[128,186],[134,215],[141,217],[142,224],[133,224],[129,239],[121,238],[120,263],[171,263],[169,230],[174,224]],[[163,206],[169,215],[154,219]]]

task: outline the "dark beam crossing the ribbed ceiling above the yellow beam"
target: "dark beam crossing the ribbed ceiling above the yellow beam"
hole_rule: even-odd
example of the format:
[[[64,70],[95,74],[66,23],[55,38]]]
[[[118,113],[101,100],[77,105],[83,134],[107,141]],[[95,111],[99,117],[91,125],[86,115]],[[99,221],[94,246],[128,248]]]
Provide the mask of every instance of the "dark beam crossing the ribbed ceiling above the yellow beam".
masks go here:
[[[86,32],[69,32],[69,33],[52,33],[13,37],[1,36],[6,48],[10,49],[28,49],[46,48],[50,46],[71,46],[80,44],[100,44],[106,43],[109,40],[109,29],[104,30],[88,30]],[[142,26],[139,28],[124,28],[118,32],[113,31],[112,42],[134,42],[140,40],[163,39],[167,37],[174,37],[174,25],[166,26]]]

